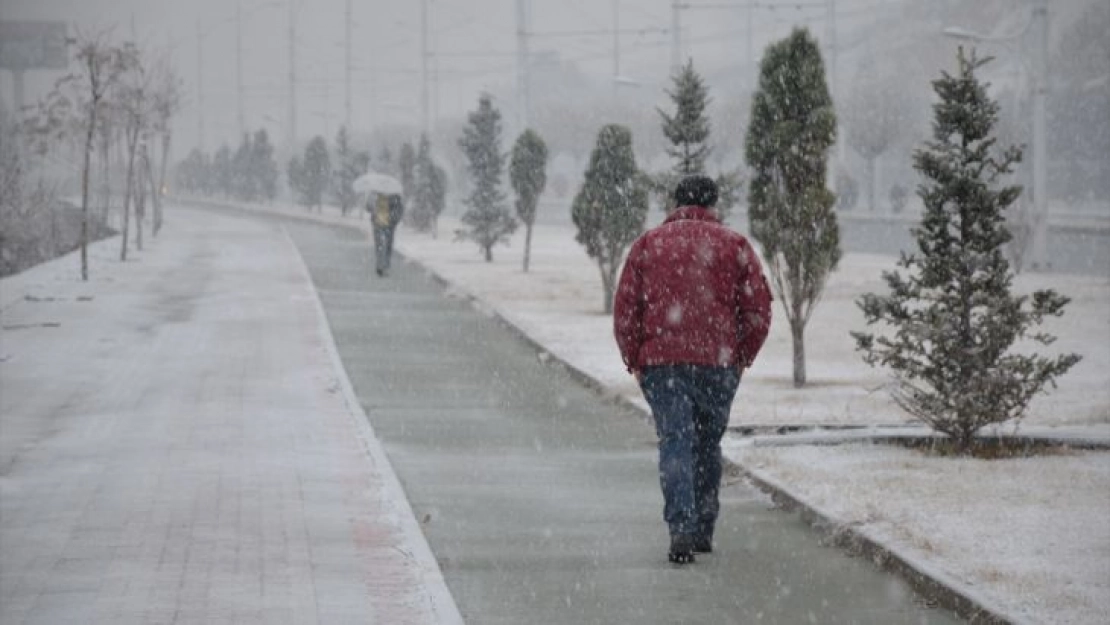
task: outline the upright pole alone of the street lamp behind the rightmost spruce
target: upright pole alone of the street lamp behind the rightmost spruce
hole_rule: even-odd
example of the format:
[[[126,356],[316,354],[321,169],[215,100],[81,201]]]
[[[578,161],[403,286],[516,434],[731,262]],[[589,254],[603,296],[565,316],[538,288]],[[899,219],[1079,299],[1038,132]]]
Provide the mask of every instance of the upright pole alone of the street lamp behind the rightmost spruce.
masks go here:
[[[1048,261],[1048,150],[1045,145],[1045,99],[1048,92],[1048,1],[1033,1],[1033,269]]]

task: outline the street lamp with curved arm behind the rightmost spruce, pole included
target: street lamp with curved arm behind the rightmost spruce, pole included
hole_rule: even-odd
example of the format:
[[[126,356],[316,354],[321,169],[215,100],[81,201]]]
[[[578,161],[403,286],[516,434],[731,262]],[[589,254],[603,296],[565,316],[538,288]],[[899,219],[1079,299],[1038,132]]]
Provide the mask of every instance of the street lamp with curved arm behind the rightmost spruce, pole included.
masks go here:
[[[959,27],[949,27],[942,30],[944,34],[955,39],[968,39],[987,43],[1002,43],[1023,38],[1032,30],[1036,41],[1033,46],[1033,71],[1032,73],[1032,165],[1033,165],[1033,214],[1032,214],[1032,268],[1048,269],[1048,189],[1047,189],[1047,150],[1045,144],[1045,100],[1048,92],[1047,67],[1048,67],[1048,2],[1047,0],[1032,0],[1032,13],[1026,26],[1018,32],[1003,37],[989,37],[971,32]],[[1036,24],[1036,28],[1033,26]]]

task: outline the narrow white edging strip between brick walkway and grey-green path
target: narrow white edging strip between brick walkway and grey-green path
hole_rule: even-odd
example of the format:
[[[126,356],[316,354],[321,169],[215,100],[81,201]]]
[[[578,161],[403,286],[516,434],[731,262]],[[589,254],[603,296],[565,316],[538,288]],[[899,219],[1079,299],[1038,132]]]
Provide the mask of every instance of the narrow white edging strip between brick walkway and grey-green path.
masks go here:
[[[301,251],[289,236],[284,226],[282,226],[282,232],[285,234],[285,239],[289,242],[290,248],[293,249],[296,262],[301,268],[301,273],[304,275],[304,279],[309,284],[309,290],[312,292],[312,301],[316,310],[317,330],[323,339],[324,346],[327,350],[327,356],[332,362],[333,372],[339,379],[340,387],[343,391],[343,401],[347,406],[347,415],[359,430],[363,447],[371,456],[374,466],[377,467],[382,474],[386,496],[391,501],[396,502],[401,507],[398,512],[402,517],[402,531],[408,538],[408,544],[413,547],[413,558],[420,566],[421,577],[423,578],[424,586],[427,589],[427,598],[431,603],[432,613],[435,614],[437,623],[443,625],[462,625],[464,623],[463,616],[458,612],[455,598],[447,588],[447,583],[443,577],[443,571],[440,568],[440,563],[436,562],[435,555],[432,553],[432,547],[427,543],[427,538],[416,524],[416,515],[412,510],[412,504],[408,502],[408,496],[401,486],[401,481],[393,471],[393,465],[390,463],[390,458],[386,455],[385,450],[382,447],[381,441],[379,441],[377,436],[374,434],[374,427],[371,425],[370,419],[366,416],[365,411],[362,409],[362,404],[359,403],[359,399],[354,393],[354,386],[351,384],[351,379],[347,376],[346,367],[343,366],[343,361],[340,359],[339,350],[335,347],[335,336],[332,334],[332,327],[327,323],[327,314],[324,312],[323,302],[320,301],[320,293],[316,292],[315,283],[312,281],[312,275],[309,273],[309,268],[304,262],[304,258],[301,255]]]

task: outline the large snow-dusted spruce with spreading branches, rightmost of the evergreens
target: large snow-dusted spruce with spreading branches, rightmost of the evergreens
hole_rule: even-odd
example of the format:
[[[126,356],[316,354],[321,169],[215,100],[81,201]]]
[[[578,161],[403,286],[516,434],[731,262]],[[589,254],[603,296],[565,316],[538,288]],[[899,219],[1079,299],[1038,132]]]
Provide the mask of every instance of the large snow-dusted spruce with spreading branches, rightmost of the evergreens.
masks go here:
[[[996,149],[998,104],[976,75],[985,61],[962,49],[957,59],[956,75],[942,72],[934,81],[940,101],[932,141],[914,154],[925,178],[918,191],[925,214],[914,229],[918,253],[902,253],[898,266],[906,275],[884,273],[889,294],[857,302],[868,324],[881,322],[892,335],[852,336],[868,364],[894,370],[898,405],[967,452],[976,432],[1019,419],[1079,356],[1010,352],[1020,340],[1051,343],[1051,335],[1029,330],[1062,315],[1069,300],[1051,290],[1031,298],[1010,293],[1005,211],[1021,189],[996,184],[1021,152]]]

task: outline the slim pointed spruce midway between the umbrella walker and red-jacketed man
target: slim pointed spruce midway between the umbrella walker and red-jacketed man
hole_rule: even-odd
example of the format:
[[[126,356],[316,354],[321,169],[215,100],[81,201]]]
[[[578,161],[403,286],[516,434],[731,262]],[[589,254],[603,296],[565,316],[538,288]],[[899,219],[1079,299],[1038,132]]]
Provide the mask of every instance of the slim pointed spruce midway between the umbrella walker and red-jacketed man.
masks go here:
[[[458,141],[466,154],[467,170],[474,188],[463,200],[470,210],[463,214],[463,223],[470,230],[460,236],[471,239],[485,254],[486,262],[493,261],[493,246],[508,242],[516,231],[516,220],[505,206],[505,194],[501,191],[501,174],[505,157],[501,152],[501,111],[493,107],[488,94],[478,99],[478,109],[467,115],[468,125],[463,129]]]

